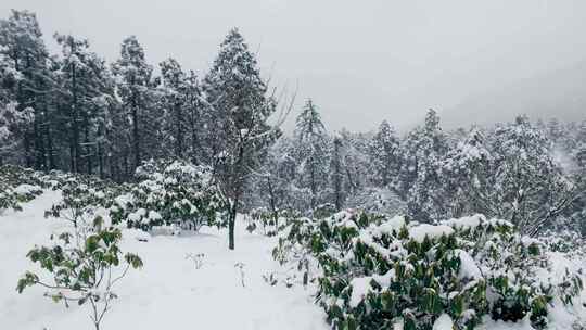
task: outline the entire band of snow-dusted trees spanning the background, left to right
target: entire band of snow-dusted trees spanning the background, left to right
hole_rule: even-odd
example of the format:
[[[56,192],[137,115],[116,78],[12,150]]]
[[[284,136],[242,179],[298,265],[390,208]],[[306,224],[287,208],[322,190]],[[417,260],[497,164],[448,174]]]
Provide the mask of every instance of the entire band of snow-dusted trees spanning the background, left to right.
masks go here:
[[[278,102],[238,29],[203,78],[175,59],[155,71],[135,36],[111,64],[87,39],[54,38],[59,54],[28,11],[0,21],[0,164],[114,181],[133,180],[152,158],[206,166],[230,232],[242,207],[275,218],[366,207],[422,223],[482,213],[524,233],[586,232],[586,120],[519,116],[445,131],[430,110],[405,135],[387,120],[374,132],[329,132],[308,99],[283,135],[268,124]]]

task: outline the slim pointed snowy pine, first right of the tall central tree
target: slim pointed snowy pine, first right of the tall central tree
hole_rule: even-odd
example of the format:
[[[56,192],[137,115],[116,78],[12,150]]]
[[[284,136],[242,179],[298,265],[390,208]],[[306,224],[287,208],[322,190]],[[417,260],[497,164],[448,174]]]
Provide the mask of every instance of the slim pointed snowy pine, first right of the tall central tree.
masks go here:
[[[295,126],[298,187],[309,188],[311,211],[323,202],[328,185],[328,134],[311,99],[307,99]]]

